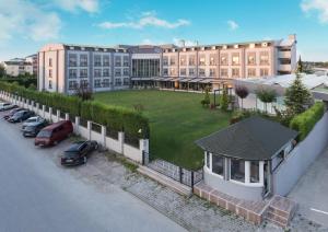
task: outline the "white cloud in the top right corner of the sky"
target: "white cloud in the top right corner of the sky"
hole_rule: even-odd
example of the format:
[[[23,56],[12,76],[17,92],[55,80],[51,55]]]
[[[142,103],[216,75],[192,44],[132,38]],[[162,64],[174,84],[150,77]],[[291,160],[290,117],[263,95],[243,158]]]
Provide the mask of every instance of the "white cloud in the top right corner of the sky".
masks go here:
[[[305,13],[317,14],[321,23],[328,23],[328,0],[303,0],[301,9]]]

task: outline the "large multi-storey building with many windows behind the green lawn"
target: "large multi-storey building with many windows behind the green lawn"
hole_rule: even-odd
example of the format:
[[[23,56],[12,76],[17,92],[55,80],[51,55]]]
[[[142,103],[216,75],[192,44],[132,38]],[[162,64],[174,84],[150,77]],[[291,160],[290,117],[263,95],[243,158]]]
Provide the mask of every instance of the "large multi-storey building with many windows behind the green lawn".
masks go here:
[[[136,86],[218,89],[234,79],[292,73],[296,36],[286,39],[202,46],[49,44],[38,53],[38,89],[70,94]]]

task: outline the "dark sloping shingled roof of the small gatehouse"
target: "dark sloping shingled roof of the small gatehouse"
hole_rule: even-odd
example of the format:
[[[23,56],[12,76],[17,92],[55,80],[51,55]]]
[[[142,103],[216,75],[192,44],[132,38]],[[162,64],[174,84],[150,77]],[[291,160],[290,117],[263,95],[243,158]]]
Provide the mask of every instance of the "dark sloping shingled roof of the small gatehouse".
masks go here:
[[[243,160],[270,160],[297,131],[254,116],[196,141],[213,154]]]

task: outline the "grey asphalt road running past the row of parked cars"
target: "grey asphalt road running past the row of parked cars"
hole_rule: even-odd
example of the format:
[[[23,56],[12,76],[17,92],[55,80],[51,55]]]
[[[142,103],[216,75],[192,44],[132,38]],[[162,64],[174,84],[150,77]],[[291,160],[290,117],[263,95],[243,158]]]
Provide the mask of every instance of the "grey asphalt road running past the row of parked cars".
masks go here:
[[[105,194],[77,179],[48,152],[0,120],[1,232],[184,231],[117,186]]]

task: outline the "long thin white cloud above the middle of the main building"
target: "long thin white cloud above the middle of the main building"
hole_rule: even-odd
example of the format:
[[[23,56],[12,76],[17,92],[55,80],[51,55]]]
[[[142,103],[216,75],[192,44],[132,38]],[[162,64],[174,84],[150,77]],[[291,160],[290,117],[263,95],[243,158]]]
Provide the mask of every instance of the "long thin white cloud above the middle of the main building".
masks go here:
[[[102,22],[97,24],[101,28],[112,30],[112,28],[144,28],[147,26],[162,27],[162,28],[177,28],[180,26],[190,25],[188,20],[179,19],[175,22],[168,22],[167,20],[157,18],[154,11],[143,12],[137,21],[127,22]]]

